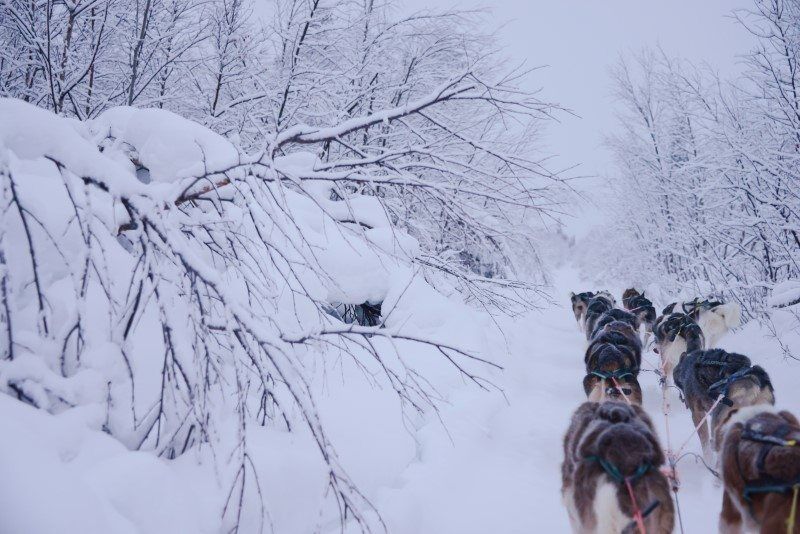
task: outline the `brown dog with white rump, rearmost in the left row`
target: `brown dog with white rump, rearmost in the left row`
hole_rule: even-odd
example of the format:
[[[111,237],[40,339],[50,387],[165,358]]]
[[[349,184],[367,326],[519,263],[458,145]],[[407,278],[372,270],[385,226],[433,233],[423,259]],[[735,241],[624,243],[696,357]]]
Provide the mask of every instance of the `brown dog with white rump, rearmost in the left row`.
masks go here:
[[[664,453],[653,423],[639,406],[587,402],[564,437],[561,494],[573,532],[669,534],[674,509]]]

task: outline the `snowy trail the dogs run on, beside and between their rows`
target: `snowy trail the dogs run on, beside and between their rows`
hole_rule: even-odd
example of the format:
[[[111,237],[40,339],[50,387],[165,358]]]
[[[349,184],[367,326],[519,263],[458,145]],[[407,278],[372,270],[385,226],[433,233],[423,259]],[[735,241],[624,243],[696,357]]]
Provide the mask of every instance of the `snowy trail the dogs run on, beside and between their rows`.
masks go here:
[[[585,401],[581,380],[586,342],[565,296],[578,289],[590,288],[571,270],[562,270],[553,288],[557,304],[507,325],[508,354],[500,383],[507,401],[464,388],[443,410],[452,441],[443,437],[439,423],[431,422],[418,432],[417,460],[397,487],[381,492],[378,499],[390,532],[569,532],[560,496],[561,440],[572,412]],[[622,288],[610,289],[619,294]],[[729,334],[720,346],[765,365],[775,377],[779,405],[791,407],[781,400],[787,393],[796,400],[791,385],[796,371],[778,371],[796,364],[785,362],[757,325]],[[645,359],[658,361],[651,351]],[[648,363],[643,366],[650,368]],[[644,407],[666,448],[658,378],[643,371],[640,382]],[[691,436],[684,453],[699,454],[691,417],[674,388],[669,390],[669,402],[672,447]],[[691,456],[680,461],[678,473],[684,532],[715,532],[721,486]],[[677,519],[675,531],[680,532]]]

